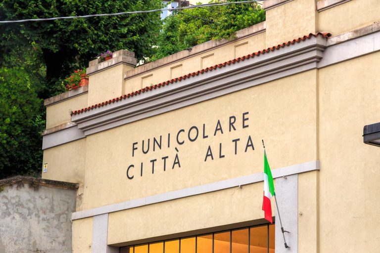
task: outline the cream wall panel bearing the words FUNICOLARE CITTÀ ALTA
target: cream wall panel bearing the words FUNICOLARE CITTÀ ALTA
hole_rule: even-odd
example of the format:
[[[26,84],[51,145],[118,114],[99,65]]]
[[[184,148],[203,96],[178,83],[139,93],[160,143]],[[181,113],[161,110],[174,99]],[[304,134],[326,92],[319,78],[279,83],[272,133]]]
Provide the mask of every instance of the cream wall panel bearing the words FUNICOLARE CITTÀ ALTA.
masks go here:
[[[270,152],[274,168],[316,160],[315,76],[316,70],[308,71],[87,136],[83,208],[260,172],[263,156],[261,139],[268,147],[276,147]],[[246,128],[242,128],[244,112],[249,112],[249,127]],[[237,117],[237,130],[229,132],[228,121],[233,115]],[[214,136],[218,120],[224,133],[218,131]],[[201,138],[203,124],[209,136],[205,139]],[[182,139],[191,126],[197,126],[200,130],[198,139],[190,142],[186,137],[185,144],[175,143],[177,132],[185,129]],[[167,148],[168,133],[171,134],[170,148]],[[159,138],[160,135],[163,138],[162,150],[153,152],[150,147],[149,153],[143,154],[142,140],[146,145],[148,138],[152,142],[153,137]],[[245,153],[249,135],[255,150],[248,149]],[[236,138],[240,138],[237,155],[232,142]],[[138,150],[132,157],[134,142],[138,142]],[[224,158],[219,158],[220,143]],[[214,160],[204,162],[208,145],[212,148]],[[181,168],[175,166],[171,169],[177,154],[175,147],[179,150]],[[166,171],[163,170],[162,161],[165,156],[169,156]],[[154,174],[152,159],[157,159]],[[129,180],[126,172],[131,164],[135,165],[131,170],[135,178]]]

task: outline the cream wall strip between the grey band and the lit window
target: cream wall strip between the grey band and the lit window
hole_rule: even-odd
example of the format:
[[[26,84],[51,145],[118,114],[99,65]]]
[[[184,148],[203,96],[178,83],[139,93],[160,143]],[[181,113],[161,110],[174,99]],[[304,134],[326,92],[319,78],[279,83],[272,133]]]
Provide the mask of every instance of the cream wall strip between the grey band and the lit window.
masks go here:
[[[108,244],[260,219],[262,189],[257,183],[110,213]]]

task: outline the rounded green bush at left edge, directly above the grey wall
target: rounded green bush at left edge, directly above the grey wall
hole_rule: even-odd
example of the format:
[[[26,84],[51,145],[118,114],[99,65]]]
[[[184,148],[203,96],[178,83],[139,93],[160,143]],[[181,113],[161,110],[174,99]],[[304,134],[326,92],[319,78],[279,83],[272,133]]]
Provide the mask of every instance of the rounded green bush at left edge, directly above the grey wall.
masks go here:
[[[0,68],[0,178],[41,168],[43,101],[21,68]]]

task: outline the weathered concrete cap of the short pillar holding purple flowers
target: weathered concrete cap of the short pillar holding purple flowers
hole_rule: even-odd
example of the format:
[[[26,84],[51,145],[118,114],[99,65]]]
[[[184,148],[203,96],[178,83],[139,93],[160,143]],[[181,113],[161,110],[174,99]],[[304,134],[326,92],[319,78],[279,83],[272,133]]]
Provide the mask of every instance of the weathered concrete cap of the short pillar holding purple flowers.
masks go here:
[[[89,67],[86,69],[87,75],[93,75],[101,70],[110,68],[115,65],[126,64],[135,67],[137,59],[135,53],[126,49],[112,52],[112,59],[99,63],[99,59],[95,59],[89,62]]]

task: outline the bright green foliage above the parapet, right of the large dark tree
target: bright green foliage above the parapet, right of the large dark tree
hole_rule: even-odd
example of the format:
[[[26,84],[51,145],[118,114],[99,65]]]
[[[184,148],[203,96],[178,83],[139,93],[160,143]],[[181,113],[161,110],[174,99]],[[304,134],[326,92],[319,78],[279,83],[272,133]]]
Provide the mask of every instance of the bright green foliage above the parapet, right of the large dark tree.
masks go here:
[[[164,20],[163,29],[158,37],[157,52],[151,60],[160,59],[209,40],[232,39],[236,31],[264,20],[265,11],[257,3],[174,11],[173,15]]]

